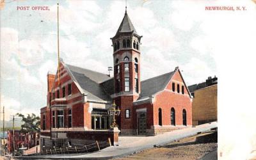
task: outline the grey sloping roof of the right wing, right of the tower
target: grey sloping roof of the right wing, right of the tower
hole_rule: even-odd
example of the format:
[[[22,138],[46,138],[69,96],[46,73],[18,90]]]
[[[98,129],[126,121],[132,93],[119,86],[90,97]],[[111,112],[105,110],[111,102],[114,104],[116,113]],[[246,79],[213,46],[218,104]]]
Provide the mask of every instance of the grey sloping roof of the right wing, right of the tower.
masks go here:
[[[170,79],[172,79],[174,73],[175,71],[141,81],[141,93],[138,100],[145,99],[156,94],[157,92],[164,90]]]

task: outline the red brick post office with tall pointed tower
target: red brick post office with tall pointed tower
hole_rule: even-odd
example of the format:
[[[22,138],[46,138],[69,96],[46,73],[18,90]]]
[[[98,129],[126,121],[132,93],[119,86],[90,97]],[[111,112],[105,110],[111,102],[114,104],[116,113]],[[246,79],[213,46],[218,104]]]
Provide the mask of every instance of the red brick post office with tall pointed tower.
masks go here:
[[[47,106],[41,109],[43,145],[56,145],[57,140],[85,143],[87,131],[108,130],[113,100],[121,110],[117,120],[121,134],[156,135],[192,125],[192,98],[179,67],[141,81],[141,37],[125,11],[111,38],[113,77],[63,60],[56,75],[47,75]]]

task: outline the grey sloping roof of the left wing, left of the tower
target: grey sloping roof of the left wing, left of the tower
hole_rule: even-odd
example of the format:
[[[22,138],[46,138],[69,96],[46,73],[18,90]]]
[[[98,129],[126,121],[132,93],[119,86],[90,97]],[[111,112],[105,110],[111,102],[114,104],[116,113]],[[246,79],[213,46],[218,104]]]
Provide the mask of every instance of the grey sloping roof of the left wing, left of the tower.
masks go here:
[[[87,95],[88,100],[111,101],[111,97],[105,92],[100,83],[111,79],[106,74],[87,70],[80,67],[65,64],[70,76],[79,85],[77,86],[82,93]]]

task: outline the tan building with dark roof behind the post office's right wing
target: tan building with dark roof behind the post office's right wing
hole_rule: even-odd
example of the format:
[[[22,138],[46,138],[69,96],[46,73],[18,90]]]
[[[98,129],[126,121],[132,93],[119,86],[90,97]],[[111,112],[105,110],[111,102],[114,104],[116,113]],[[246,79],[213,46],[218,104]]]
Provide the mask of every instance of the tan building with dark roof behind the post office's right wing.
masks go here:
[[[218,78],[208,77],[204,83],[188,86],[192,103],[192,124],[200,125],[218,120],[217,92]]]

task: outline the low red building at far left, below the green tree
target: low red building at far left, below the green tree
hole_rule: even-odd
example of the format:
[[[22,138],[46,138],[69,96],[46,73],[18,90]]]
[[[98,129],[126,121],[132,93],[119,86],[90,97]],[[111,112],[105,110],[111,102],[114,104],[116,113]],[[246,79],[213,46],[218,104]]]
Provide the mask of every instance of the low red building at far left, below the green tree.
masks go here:
[[[36,133],[34,132],[33,134],[28,134],[28,133],[22,133],[20,130],[15,130],[14,131],[14,142],[15,142],[15,150],[19,149],[28,149],[31,147],[35,147],[36,141],[37,145],[39,144],[39,134],[37,134],[36,138]],[[7,151],[9,153],[13,152],[13,131],[9,130],[7,131]]]

